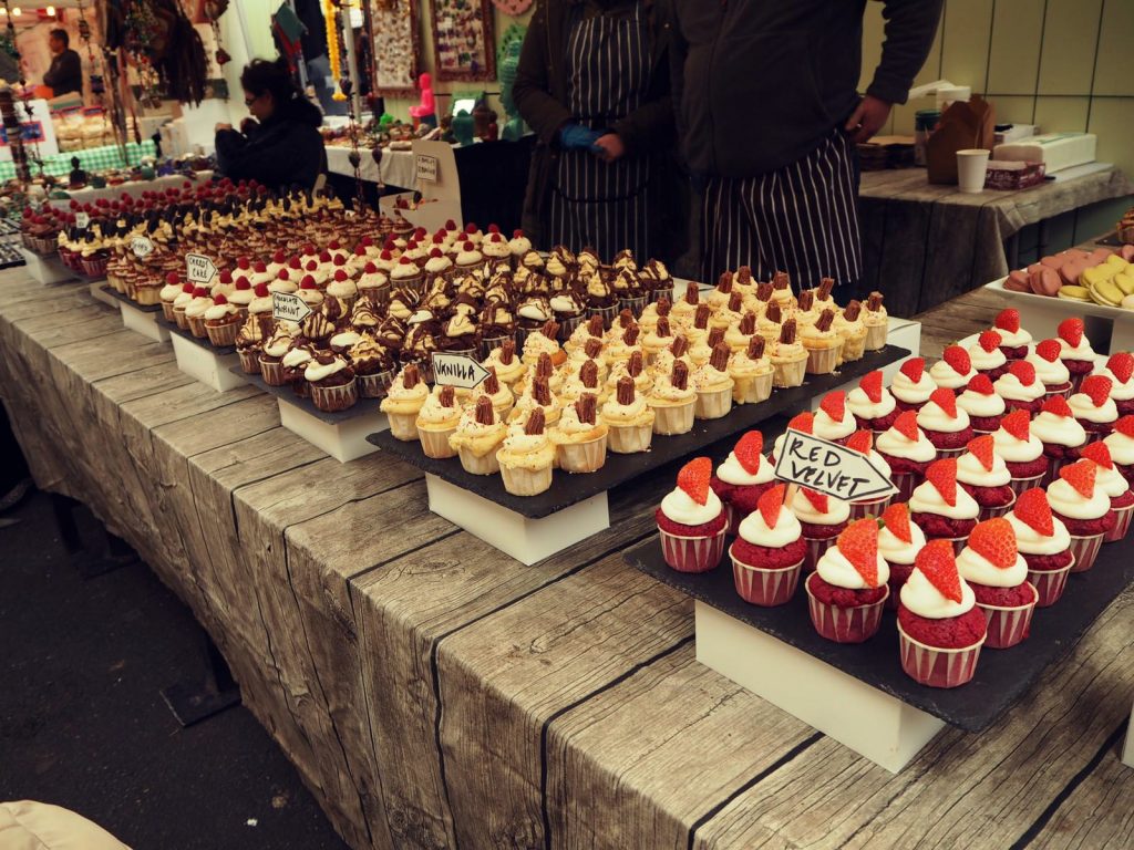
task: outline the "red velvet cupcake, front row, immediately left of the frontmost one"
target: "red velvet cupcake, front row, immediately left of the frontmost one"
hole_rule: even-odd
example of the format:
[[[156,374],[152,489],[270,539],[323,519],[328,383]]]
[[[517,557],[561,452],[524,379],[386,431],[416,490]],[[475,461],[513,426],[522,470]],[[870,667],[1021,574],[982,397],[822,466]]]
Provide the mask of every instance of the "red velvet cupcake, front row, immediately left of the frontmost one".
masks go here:
[[[882,624],[889,578],[890,568],[878,551],[878,522],[852,522],[807,576],[807,610],[815,631],[837,644],[872,638]]]

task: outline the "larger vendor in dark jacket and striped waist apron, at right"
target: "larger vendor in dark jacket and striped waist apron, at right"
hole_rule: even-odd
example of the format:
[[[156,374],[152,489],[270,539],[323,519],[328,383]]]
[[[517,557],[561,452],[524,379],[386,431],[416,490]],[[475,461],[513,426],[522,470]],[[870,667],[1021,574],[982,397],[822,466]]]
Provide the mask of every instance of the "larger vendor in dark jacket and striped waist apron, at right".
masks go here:
[[[705,188],[706,280],[748,265],[759,280],[855,288],[855,144],[905,102],[941,16],[941,0],[882,2],[882,60],[860,96],[866,0],[674,0],[674,103]]]

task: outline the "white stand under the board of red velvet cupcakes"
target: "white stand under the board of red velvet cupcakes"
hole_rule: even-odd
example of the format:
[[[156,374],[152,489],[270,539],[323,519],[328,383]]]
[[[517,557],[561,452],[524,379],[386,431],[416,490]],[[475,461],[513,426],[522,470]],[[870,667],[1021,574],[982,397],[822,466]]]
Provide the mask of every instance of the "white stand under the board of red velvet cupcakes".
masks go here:
[[[703,602],[696,603],[696,644],[702,664],[890,773],[946,725]]]

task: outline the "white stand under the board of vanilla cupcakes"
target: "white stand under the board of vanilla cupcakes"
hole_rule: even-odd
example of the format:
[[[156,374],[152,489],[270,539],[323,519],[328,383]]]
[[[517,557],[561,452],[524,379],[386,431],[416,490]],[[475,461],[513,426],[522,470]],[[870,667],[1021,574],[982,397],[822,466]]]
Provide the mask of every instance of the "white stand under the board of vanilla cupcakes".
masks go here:
[[[431,511],[526,564],[610,527],[604,492],[549,517],[528,519],[431,473],[425,474],[425,491]]]

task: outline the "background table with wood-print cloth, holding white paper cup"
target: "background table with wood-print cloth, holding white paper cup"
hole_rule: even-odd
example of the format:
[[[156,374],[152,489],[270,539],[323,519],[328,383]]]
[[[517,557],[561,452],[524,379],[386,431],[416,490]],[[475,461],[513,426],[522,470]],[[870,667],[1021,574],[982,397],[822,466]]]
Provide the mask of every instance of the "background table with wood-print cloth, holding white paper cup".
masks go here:
[[[921,168],[864,171],[863,289],[885,292],[891,313],[912,316],[1017,267],[1013,238],[1024,227],[1132,192],[1122,171],[1101,163],[1029,189],[979,195],[931,186]]]

